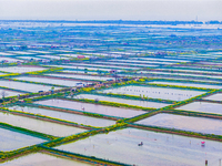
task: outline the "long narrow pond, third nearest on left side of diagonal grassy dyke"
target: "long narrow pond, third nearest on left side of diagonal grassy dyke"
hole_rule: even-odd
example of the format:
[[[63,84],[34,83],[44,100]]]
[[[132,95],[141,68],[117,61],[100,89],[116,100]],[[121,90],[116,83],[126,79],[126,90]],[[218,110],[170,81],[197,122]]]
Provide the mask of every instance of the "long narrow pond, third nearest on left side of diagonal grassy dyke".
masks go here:
[[[46,115],[46,116],[50,116],[50,117],[54,117],[59,120],[75,122],[79,124],[91,125],[91,126],[97,126],[97,127],[104,127],[104,126],[110,126],[110,125],[115,124],[115,121],[111,121],[111,120],[83,116],[83,115],[39,108],[39,107],[17,105],[17,106],[8,107],[8,108],[23,111],[23,112],[33,113],[33,114],[41,114],[41,115]]]

